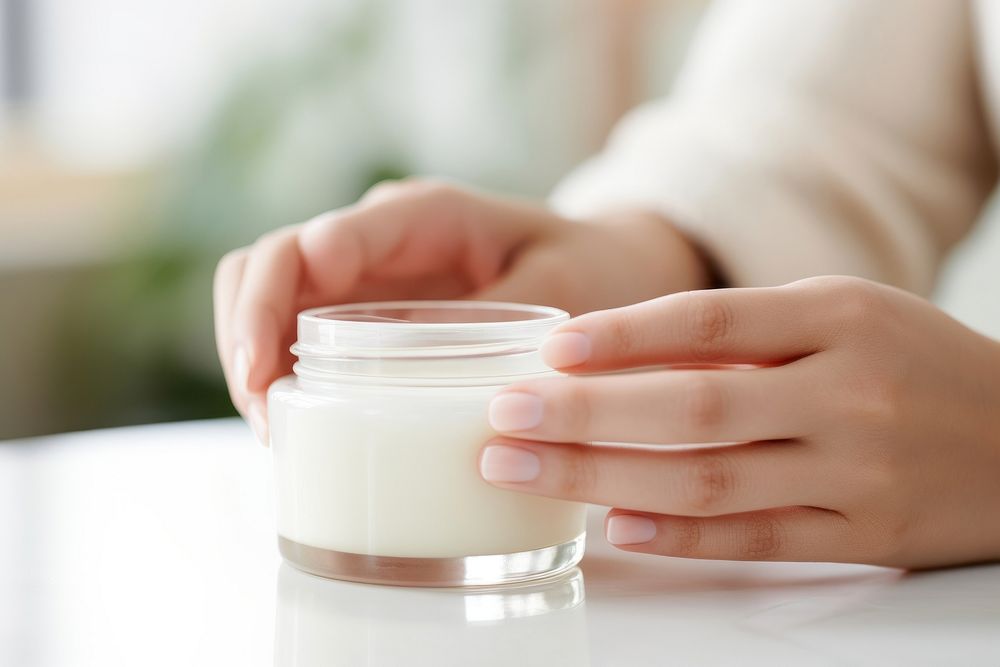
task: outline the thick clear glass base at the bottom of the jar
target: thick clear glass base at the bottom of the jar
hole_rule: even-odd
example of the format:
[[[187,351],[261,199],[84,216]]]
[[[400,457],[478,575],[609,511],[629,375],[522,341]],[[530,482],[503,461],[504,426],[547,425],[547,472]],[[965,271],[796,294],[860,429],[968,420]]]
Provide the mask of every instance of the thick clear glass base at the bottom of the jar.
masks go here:
[[[498,586],[551,577],[583,558],[586,533],[531,551],[454,558],[369,556],[332,551],[278,536],[282,557],[293,567],[328,579],[390,586]]]

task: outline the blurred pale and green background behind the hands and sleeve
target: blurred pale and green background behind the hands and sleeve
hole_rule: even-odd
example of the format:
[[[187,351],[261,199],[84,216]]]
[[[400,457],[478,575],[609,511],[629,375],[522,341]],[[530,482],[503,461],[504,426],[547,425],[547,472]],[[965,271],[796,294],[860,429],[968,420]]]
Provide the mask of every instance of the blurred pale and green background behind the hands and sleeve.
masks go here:
[[[225,251],[408,174],[543,198],[704,4],[0,0],[0,439],[235,414]],[[990,217],[936,299],[1000,337]]]

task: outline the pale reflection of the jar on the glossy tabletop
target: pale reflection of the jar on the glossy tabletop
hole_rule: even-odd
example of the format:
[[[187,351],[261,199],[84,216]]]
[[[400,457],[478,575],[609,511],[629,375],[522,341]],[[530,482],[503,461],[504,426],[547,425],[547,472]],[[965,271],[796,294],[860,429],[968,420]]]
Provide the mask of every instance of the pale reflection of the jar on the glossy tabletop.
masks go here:
[[[589,664],[583,574],[415,589],[278,571],[276,667]]]

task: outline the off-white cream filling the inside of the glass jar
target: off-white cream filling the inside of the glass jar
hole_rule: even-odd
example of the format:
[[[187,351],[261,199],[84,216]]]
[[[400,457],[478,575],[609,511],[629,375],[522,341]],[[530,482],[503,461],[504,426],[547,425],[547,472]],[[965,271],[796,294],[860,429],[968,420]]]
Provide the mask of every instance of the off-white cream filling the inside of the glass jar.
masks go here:
[[[529,551],[584,530],[583,505],[490,486],[496,388],[271,390],[278,532],[356,554],[458,557]]]

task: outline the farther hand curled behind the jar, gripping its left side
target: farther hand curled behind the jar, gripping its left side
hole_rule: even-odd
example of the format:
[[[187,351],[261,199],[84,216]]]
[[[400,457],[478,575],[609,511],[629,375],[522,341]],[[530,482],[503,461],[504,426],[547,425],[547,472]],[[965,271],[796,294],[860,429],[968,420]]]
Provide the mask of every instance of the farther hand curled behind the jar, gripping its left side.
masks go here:
[[[215,275],[216,341],[233,404],[263,439],[264,392],[291,372],[288,348],[305,308],[463,297],[582,313],[704,286],[698,253],[665,220],[595,222],[413,180],[264,235],[227,254]]]

